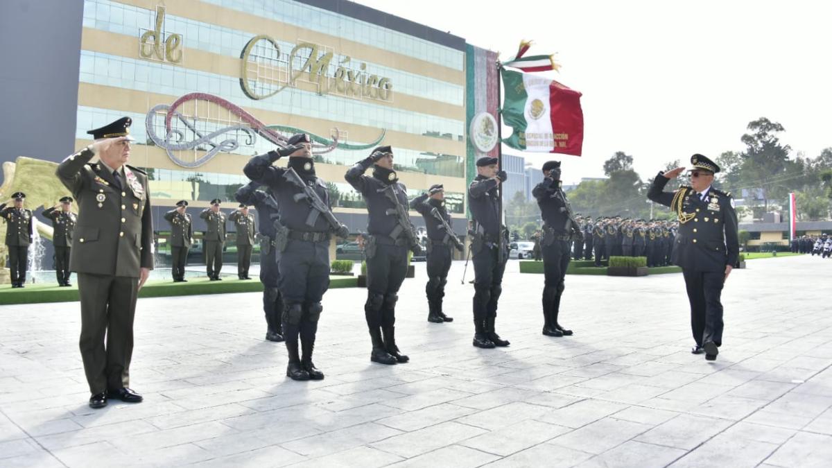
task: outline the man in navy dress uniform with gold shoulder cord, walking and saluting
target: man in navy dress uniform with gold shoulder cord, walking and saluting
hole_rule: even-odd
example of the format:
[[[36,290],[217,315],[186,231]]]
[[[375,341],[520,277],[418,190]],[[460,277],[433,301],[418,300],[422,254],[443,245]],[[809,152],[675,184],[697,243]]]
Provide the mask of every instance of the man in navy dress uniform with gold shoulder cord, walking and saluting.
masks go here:
[[[711,187],[720,167],[707,157],[691,157],[691,187],[662,192],[668,181],[685,169],[659,172],[647,197],[676,212],[679,232],[673,242],[672,261],[681,266],[687,298],[691,302],[691,330],[696,347],[714,361],[722,344],[722,303],[720,296],[740,251],[736,212],[730,193]]]

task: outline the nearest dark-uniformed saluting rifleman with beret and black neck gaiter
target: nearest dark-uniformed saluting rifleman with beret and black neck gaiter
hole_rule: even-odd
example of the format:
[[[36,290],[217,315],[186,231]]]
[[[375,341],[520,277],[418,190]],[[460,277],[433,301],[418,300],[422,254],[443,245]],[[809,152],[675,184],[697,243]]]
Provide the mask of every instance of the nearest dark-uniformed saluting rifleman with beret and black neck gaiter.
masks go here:
[[[329,207],[329,191],[323,179],[316,177],[312,159],[312,141],[309,135],[300,133],[289,139],[287,147],[255,156],[245,165],[243,172],[252,181],[269,187],[280,206],[280,232],[276,250],[280,251],[280,292],[286,309],[283,314],[283,331],[289,365],[286,376],[296,381],[321,380],[324,373],[312,362],[318,319],[324,306],[320,301],[329,288],[329,238],[332,225],[326,213],[316,210],[298,187],[285,177],[288,168],[274,167],[280,157],[289,157],[289,167],[300,176],[301,182],[310,187],[319,199]],[[318,212],[310,226],[310,212]],[[331,212],[329,213],[331,215]],[[339,235],[343,235],[343,225]],[[303,357],[298,353],[298,336]]]

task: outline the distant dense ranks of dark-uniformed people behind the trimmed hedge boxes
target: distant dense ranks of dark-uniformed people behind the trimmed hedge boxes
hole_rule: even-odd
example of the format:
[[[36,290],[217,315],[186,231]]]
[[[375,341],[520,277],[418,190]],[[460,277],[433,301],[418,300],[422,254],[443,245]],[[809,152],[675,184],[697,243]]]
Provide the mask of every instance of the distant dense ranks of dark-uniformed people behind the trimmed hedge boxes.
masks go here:
[[[671,264],[676,221],[630,219],[622,217],[575,217],[581,238],[572,240],[573,260],[594,260],[595,266],[610,256],[645,256],[647,266]],[[536,241],[540,235],[537,235]],[[537,246],[536,246],[537,248]],[[536,253],[537,257],[537,253]]]

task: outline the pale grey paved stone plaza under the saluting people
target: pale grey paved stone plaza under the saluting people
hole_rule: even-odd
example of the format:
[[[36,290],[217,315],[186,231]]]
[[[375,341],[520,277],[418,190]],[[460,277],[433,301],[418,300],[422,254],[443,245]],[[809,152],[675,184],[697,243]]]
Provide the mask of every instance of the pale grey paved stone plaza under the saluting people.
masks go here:
[[[320,382],[285,377],[259,294],[142,299],[145,402],[103,410],[87,407],[77,303],[2,307],[0,466],[830,466],[832,261],[735,271],[713,363],[689,352],[680,274],[567,276],[575,335],[549,338],[542,275],[516,261],[498,315],[512,346],[474,348],[462,266],[451,324],[426,321],[424,264],[405,282],[404,365],[369,362],[364,290],[329,291]]]

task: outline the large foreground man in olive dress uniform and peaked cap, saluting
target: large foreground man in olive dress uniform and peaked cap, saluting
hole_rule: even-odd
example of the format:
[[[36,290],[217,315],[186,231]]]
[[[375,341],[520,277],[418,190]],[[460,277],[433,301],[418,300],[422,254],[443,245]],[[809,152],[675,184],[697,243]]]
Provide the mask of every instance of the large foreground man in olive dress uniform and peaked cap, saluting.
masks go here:
[[[78,275],[81,356],[93,408],[107,398],[142,400],[127,386],[136,296],[153,268],[153,225],[147,175],[125,164],[130,124],[122,117],[87,132],[96,141],[57,167],[78,203],[69,266]],[[98,162],[90,162],[93,156]]]

